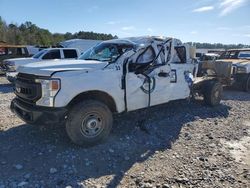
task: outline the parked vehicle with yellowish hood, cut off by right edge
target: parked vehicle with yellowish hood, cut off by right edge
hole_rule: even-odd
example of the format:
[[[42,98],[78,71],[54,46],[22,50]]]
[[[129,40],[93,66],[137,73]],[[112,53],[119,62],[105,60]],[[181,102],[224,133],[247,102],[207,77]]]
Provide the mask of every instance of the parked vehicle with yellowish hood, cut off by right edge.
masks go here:
[[[234,85],[242,90],[250,92],[250,49],[232,49],[226,51],[217,60],[218,62],[230,62],[232,64],[232,79]]]

